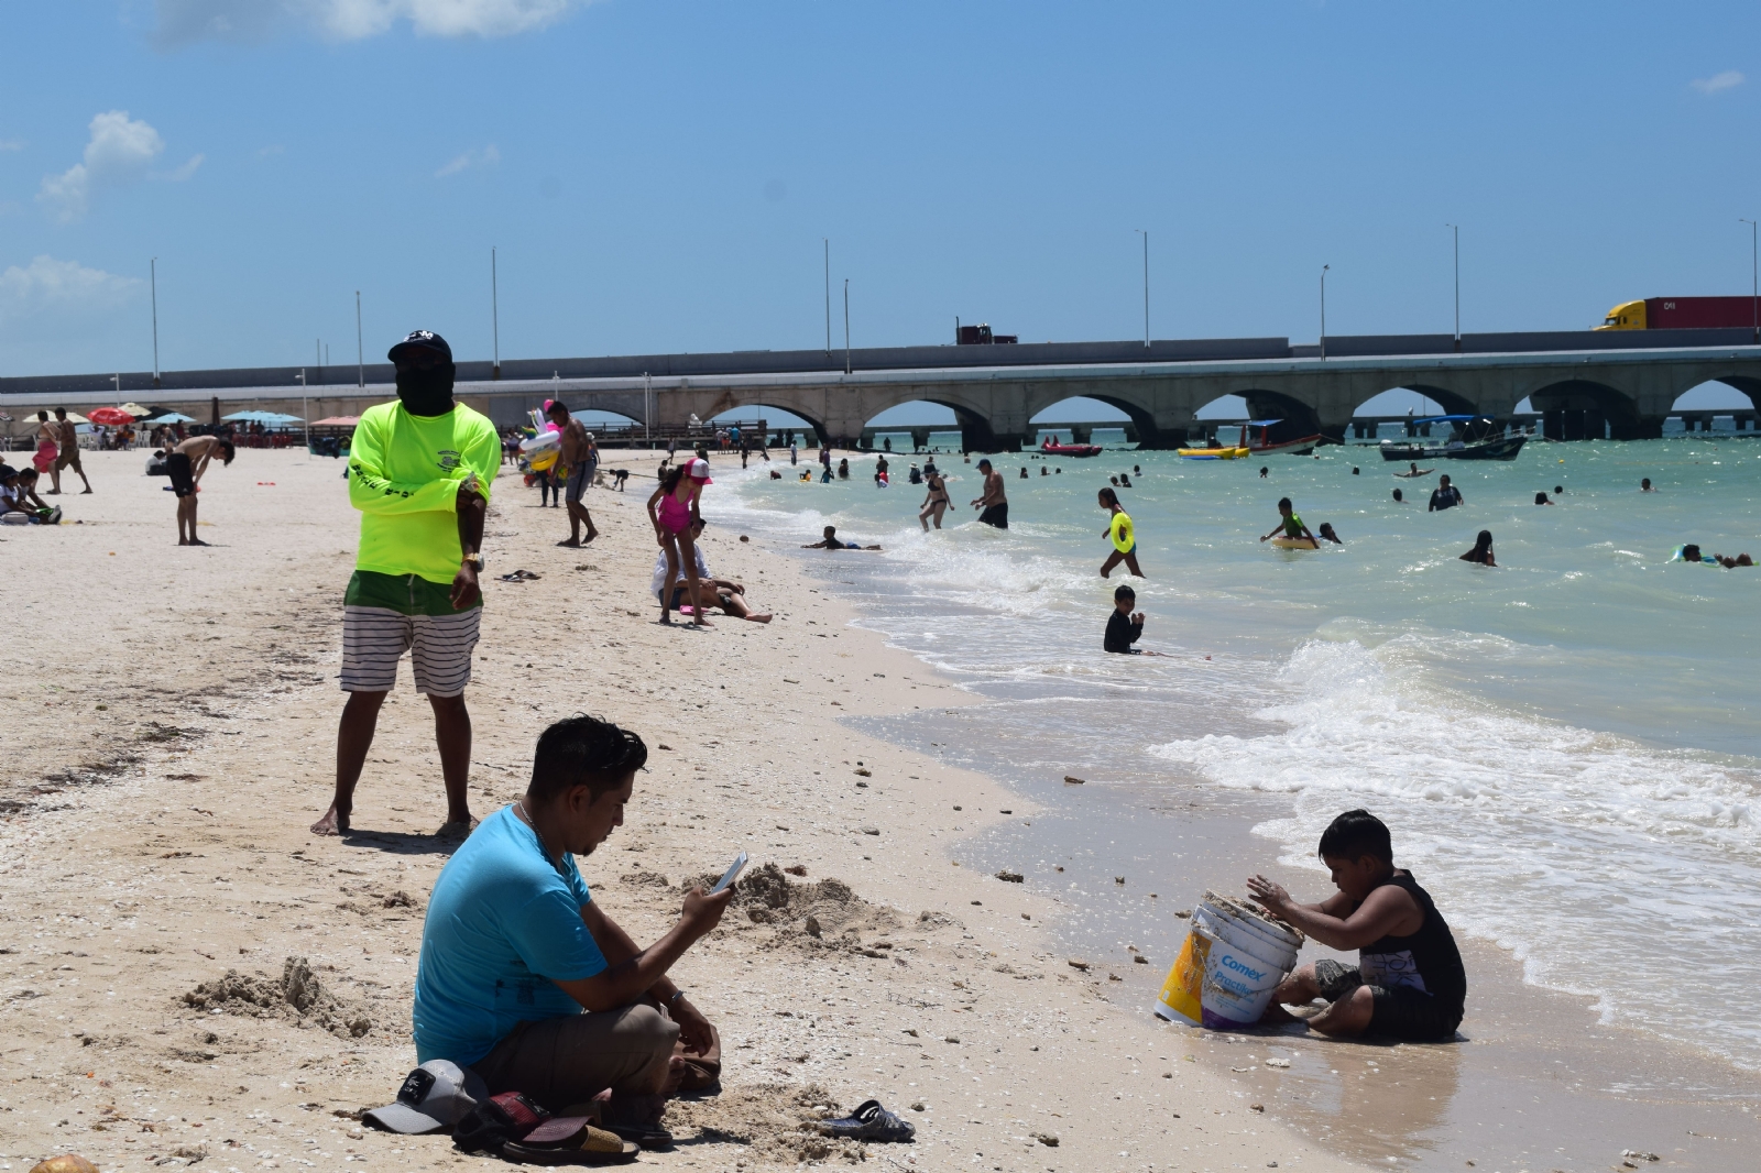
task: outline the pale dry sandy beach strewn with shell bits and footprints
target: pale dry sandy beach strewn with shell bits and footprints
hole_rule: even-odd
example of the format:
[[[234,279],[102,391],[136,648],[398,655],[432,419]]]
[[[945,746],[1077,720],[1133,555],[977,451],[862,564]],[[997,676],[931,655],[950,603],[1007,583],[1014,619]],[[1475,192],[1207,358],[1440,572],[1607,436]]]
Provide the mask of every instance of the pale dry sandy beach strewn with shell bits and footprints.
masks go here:
[[[407,662],[356,833],[306,831],[342,706],[357,532],[342,463],[243,451],[215,467],[206,550],[173,544],[171,495],[143,463],[88,454],[97,493],[60,498],[69,525],[0,535],[32,585],[12,594],[0,683],[0,1168],[58,1152],[102,1169],[454,1168],[444,1136],[357,1122],[414,1066],[421,916],[447,854]],[[1208,1062],[1252,1066],[1257,1041],[1155,1022],[1129,962],[1058,946],[1058,900],[960,865],[972,835],[1034,805],[842,722],[947,712],[962,692],[852,627],[789,558],[715,527],[715,490],[710,564],[777,620],[659,625],[641,484],[593,490],[602,537],[574,551],[553,544],[560,509],[498,481],[468,699],[479,815],[521,793],[562,715],[602,713],[653,747],[629,824],[583,861],[639,939],[683,881],[741,849],[761,868],[674,970],[722,1032],[724,1092],[674,1106],[676,1150],[643,1164],[1352,1168]],[[514,569],[541,578],[497,578]],[[805,1127],[866,1097],[916,1143],[863,1154]]]

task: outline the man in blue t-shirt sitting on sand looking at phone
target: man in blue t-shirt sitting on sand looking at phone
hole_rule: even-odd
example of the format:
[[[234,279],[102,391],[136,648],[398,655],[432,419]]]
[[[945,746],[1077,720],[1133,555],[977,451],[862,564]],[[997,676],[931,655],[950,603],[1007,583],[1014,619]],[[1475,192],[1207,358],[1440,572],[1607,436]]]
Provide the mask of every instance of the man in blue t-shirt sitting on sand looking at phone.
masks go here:
[[[623,824],[646,761],[639,736],[593,717],[539,736],[525,796],[435,879],[410,1016],[417,1062],[470,1067],[490,1094],[525,1092],[551,1111],[611,1088],[604,1122],[623,1127],[659,1122],[685,1053],[718,1071],[715,1027],[667,970],[720,923],[733,886],[692,888],[678,921],[639,948],[576,863]]]

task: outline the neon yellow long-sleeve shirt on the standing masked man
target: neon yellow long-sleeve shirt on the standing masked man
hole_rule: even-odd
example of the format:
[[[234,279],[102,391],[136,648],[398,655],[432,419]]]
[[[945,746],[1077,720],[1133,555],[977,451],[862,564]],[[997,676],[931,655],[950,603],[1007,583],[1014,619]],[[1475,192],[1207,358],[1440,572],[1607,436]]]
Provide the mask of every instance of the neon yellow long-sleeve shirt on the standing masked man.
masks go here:
[[[412,416],[396,402],[368,407],[349,447],[349,504],[361,511],[356,569],[451,583],[465,557],[458,483],[475,472],[488,497],[500,467],[495,424],[463,403],[446,416]]]

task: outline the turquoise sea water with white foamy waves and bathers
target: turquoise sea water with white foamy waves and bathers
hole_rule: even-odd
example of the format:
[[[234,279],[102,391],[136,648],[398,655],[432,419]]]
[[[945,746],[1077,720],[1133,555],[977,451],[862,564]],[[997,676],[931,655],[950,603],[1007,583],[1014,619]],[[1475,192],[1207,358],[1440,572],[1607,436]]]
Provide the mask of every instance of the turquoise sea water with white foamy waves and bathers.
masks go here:
[[[1395,479],[1404,465],[1370,447],[1205,463],[1023,453],[997,458],[1007,532],[974,521],[979,476],[956,453],[939,458],[956,509],[928,535],[912,460],[891,456],[888,490],[868,461],[851,481],[798,484],[722,460],[706,513],[882,542],[814,555],[815,571],[865,625],[1000,705],[990,770],[1004,780],[1078,761],[1099,782],[1278,796],[1287,814],[1257,830],[1301,865],[1328,819],[1370,807],[1456,928],[1513,948],[1530,981],[1761,1069],[1761,1029],[1731,997],[1761,978],[1761,569],[1668,562],[1684,541],[1761,557],[1761,444],[1433,461],[1467,498],[1435,514],[1437,476]],[[1095,490],[1132,465],[1120,495],[1150,576],[1131,579],[1148,613],[1139,646],[1169,659],[1101,652],[1125,579],[1097,576],[1109,544]],[[1657,493],[1639,493],[1647,476]],[[1555,486],[1557,505],[1532,504]],[[1345,544],[1259,544],[1282,495]],[[1481,528],[1499,569],[1456,558]]]

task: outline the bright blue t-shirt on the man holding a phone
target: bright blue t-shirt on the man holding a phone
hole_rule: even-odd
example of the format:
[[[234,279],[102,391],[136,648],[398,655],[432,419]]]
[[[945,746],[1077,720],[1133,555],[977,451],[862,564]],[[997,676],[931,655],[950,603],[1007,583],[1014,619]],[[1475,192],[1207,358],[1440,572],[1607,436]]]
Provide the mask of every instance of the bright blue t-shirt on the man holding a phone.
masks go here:
[[[556,870],[512,807],[484,819],[428,896],[412,1014],[416,1062],[468,1067],[521,1022],[579,1014],[579,1002],[556,981],[606,969],[581,923],[592,900],[574,856]]]

